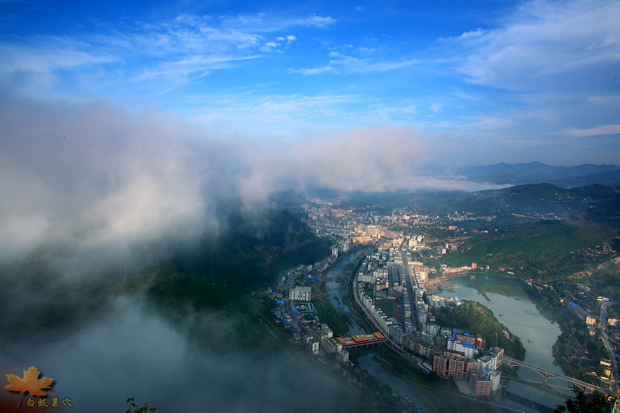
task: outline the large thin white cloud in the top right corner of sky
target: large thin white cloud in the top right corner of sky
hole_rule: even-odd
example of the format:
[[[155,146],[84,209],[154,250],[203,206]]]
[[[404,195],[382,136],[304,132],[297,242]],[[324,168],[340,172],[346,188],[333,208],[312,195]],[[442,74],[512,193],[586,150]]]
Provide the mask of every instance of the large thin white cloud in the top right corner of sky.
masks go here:
[[[530,1],[498,29],[477,29],[441,42],[477,84],[576,88],[595,84],[620,61],[620,2]],[[607,65],[607,66],[606,66]]]

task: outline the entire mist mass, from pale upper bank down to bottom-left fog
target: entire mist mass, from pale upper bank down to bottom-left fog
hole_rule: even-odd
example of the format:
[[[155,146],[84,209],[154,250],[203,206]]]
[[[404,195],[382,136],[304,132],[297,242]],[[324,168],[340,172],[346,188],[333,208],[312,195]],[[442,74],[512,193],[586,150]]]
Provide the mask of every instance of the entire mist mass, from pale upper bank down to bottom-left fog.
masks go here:
[[[232,140],[156,110],[10,94],[0,124],[2,373],[37,366],[76,411],[122,411],[132,393],[162,411],[354,407],[301,353],[248,346],[241,313],[169,318],[119,268],[148,276],[179,246],[217,244],[227,205],[260,220],[278,190],[480,188],[415,174],[410,130]]]

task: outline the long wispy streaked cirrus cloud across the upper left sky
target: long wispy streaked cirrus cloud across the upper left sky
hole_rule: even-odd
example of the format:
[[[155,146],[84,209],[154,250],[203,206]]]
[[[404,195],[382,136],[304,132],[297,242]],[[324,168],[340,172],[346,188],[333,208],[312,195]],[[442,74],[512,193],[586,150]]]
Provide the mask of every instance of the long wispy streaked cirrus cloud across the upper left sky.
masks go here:
[[[311,16],[278,19],[278,16],[197,16],[179,14],[172,19],[136,21],[72,35],[15,37],[0,43],[0,76],[29,74],[52,87],[56,72],[99,69],[102,64],[115,81],[157,81],[169,89],[234,68],[273,51],[285,51],[297,40],[290,33],[322,29],[335,23],[332,17]],[[286,30],[278,35],[275,32]],[[122,79],[118,79],[121,76]]]

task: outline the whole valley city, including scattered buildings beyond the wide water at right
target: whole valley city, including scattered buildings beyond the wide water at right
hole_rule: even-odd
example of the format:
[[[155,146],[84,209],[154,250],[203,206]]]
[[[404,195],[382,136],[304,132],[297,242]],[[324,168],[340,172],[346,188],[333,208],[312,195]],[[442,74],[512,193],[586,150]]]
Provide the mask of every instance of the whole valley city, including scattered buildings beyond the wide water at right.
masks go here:
[[[588,334],[600,335],[596,326],[603,326],[601,332],[605,337],[608,354],[600,356],[601,369],[598,370],[601,370],[601,375],[598,383],[578,380],[561,372],[529,365],[513,358],[518,357],[516,354],[513,354],[513,357],[505,356],[503,348],[488,344],[488,340],[476,331],[466,331],[461,326],[436,324],[436,317],[433,314],[435,309],[458,308],[464,301],[457,296],[440,296],[428,291],[427,282],[433,281],[431,288],[436,291],[438,285],[444,287],[450,285],[446,277],[464,275],[469,277],[471,274],[473,279],[476,275],[488,279],[488,275],[485,274],[491,269],[489,265],[479,268],[476,262],[461,267],[448,267],[446,264],[427,267],[425,262],[467,246],[469,237],[464,236],[467,232],[450,223],[480,220],[489,223],[490,229],[492,221],[497,217],[477,216],[464,211],[446,214],[445,217],[420,215],[411,210],[393,210],[387,215],[371,211],[356,213],[355,208],[339,208],[339,205],[334,205],[329,200],[315,198],[311,201],[316,206],[301,205],[298,213],[307,215],[302,216],[302,219],[317,235],[329,239],[332,244],[332,255],[321,262],[300,265],[288,270],[277,289],[273,292],[267,291],[277,302],[277,306],[272,310],[273,314],[286,328],[295,331],[294,340],[304,349],[308,349],[314,355],[323,353],[333,355],[335,360],[342,363],[343,368],[350,370],[356,367],[349,360],[350,350],[372,349],[379,344],[386,345],[399,355],[403,362],[427,374],[433,372],[437,376],[454,380],[463,395],[497,396],[491,397],[494,401],[500,401],[501,392],[498,390],[500,386],[505,385],[500,369],[502,364],[531,368],[541,375],[542,383],[547,383],[547,379],[551,377],[565,380],[567,386],[578,386],[587,392],[601,391],[613,394],[617,392],[615,346],[611,347],[606,338],[608,331],[606,326],[614,326],[617,320],[612,318],[604,321],[607,303],[613,304],[613,302],[603,296],[596,297],[596,301],[606,304],[601,307],[601,314],[597,318],[587,306],[575,302],[587,298],[586,293],[593,294],[587,286],[577,283],[575,285],[577,292],[565,291],[566,298],[559,298],[557,301],[575,313],[587,328]],[[543,219],[557,220],[556,217],[549,215],[545,215]],[[401,230],[398,231],[397,228]],[[422,233],[410,232],[416,228]],[[474,232],[489,233],[489,229]],[[456,236],[442,239],[440,236],[432,238],[429,234],[436,234],[441,230],[451,231],[456,233]],[[326,274],[339,260],[339,256],[356,250],[362,252],[356,262],[353,262],[354,267],[353,264],[348,264],[350,279],[346,283],[352,298],[349,305],[356,309],[357,316],[363,318],[366,326],[370,328],[366,328],[364,334],[339,337],[334,335],[324,321],[321,321],[312,303],[312,297],[313,294],[322,295],[321,285],[329,282]],[[603,257],[609,255],[613,258],[615,254],[609,248],[609,244],[589,251],[590,254]],[[412,254],[415,254],[418,260],[412,260]],[[504,267],[498,267],[495,271],[505,272],[508,277],[515,274],[510,268]],[[432,275],[430,279],[429,274]],[[525,280],[525,285],[537,291],[557,292],[556,288],[562,288],[554,284],[534,282],[531,278]],[[351,311],[348,313],[353,316]],[[602,322],[597,324],[598,320]],[[506,329],[502,329],[501,334],[510,340],[510,333]],[[535,340],[536,335],[532,338]],[[528,338],[528,342],[534,340]],[[497,344],[497,337],[494,342]],[[582,348],[583,360],[591,360],[591,357],[583,357],[584,351],[590,353]],[[612,356],[609,357],[609,354]],[[523,357],[520,358],[522,360]],[[364,366],[357,367],[357,371],[366,370]],[[526,400],[526,397],[521,399]],[[404,406],[415,406],[409,396],[401,396],[401,403]]]

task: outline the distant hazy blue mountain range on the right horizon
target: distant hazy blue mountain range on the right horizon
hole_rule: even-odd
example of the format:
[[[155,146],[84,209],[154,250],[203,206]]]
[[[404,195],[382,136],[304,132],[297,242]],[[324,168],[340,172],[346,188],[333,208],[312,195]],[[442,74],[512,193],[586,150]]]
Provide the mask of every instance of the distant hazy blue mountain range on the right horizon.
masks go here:
[[[456,170],[456,174],[464,175],[478,182],[492,182],[497,184],[537,184],[542,182],[554,182],[562,179],[585,177],[585,175],[604,174],[605,172],[620,171],[618,165],[595,165],[583,164],[577,166],[552,166],[538,161],[528,164],[500,164],[485,166],[462,166]],[[583,185],[598,184],[591,177],[584,180]],[[613,182],[614,184],[616,182]],[[564,185],[562,185],[564,186]]]

